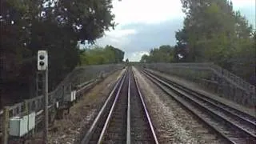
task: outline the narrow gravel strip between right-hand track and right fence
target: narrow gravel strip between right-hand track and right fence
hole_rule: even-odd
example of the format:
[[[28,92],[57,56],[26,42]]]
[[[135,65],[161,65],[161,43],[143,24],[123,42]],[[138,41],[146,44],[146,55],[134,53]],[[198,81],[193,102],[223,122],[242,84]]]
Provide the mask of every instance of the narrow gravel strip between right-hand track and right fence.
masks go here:
[[[190,82],[184,78],[179,78],[177,76],[170,75],[170,74],[164,74],[164,73],[158,72],[156,70],[150,70],[150,71],[153,72],[154,74],[160,74],[162,77],[170,79],[171,81],[181,84],[182,86],[186,86],[190,89],[196,90],[199,93],[206,95],[207,97],[217,100],[218,102],[222,102],[222,103],[224,103],[228,106],[231,106],[237,110],[240,110],[246,114],[250,114],[250,115],[253,115],[254,117],[256,117],[255,109],[247,108],[245,106],[239,105],[238,103],[232,102],[226,98],[219,97],[218,94],[210,93],[209,91],[206,91],[205,89],[202,88],[202,86],[199,86],[195,82]]]

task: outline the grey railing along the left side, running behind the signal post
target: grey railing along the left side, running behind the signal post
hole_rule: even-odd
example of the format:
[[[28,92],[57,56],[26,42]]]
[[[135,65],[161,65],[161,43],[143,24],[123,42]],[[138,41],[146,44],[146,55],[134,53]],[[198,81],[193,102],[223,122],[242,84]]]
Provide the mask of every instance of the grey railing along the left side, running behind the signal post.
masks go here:
[[[75,68],[70,74],[64,78],[62,82],[56,87],[55,90],[51,91],[49,93],[49,106],[48,108],[52,108],[55,105],[55,102],[63,102],[64,101],[64,94],[65,94],[65,86],[70,86],[70,83],[74,83],[75,86],[78,87],[78,94],[83,92],[87,87],[90,86],[91,83],[95,82],[96,79],[98,78],[99,74],[110,74],[111,72],[120,69],[124,65],[122,64],[112,64],[112,65],[100,65],[100,66],[81,66]],[[90,74],[90,77],[84,78],[86,81],[83,81],[82,83],[75,82],[75,80],[81,76],[77,75],[78,70],[83,70],[83,74],[87,74],[88,72]],[[81,71],[80,71],[81,72]],[[18,102],[14,104],[13,106],[9,106],[9,116],[14,117],[14,116],[22,116],[26,108],[28,111],[35,111],[37,115],[42,113],[43,109],[43,103],[44,103],[44,97],[42,95],[35,97],[35,98],[30,98],[24,100],[24,102]],[[2,125],[2,119],[3,119],[3,110],[0,110],[0,123]],[[2,135],[1,130],[2,126],[0,126],[0,137]]]

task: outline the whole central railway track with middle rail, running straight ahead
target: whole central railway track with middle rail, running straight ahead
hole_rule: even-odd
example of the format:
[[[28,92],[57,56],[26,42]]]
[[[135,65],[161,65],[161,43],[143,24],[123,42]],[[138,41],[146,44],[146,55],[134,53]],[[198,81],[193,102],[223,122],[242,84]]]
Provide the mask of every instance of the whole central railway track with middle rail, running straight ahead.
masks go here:
[[[114,86],[81,143],[158,143],[130,67]]]

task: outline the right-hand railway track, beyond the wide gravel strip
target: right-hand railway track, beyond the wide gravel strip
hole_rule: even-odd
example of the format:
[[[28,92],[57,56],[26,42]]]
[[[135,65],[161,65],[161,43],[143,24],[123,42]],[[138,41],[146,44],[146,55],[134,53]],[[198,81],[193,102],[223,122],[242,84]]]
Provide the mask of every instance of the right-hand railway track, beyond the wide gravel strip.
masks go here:
[[[256,118],[143,70],[152,82],[195,114],[228,143],[256,143]]]

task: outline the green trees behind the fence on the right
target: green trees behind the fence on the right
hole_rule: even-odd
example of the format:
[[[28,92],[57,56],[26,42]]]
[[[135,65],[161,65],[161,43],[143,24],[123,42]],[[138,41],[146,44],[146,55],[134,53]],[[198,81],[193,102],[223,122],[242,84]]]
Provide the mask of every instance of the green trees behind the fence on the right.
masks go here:
[[[165,50],[150,50],[142,62],[214,62],[255,85],[256,33],[227,0],[181,0],[186,14],[175,34],[177,43]],[[151,52],[152,51],[152,52]],[[154,51],[162,51],[162,56]],[[158,58],[155,58],[157,57]],[[154,59],[152,61],[152,59]],[[170,59],[172,59],[170,61]]]

